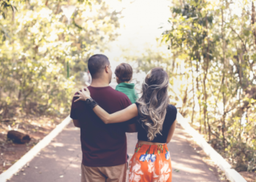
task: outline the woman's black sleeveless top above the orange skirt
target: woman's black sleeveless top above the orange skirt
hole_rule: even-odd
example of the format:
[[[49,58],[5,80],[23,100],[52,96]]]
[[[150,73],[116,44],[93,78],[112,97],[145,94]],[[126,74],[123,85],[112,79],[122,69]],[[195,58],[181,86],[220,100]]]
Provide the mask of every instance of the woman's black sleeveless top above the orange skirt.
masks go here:
[[[139,103],[136,103],[137,108],[139,108]],[[177,108],[173,105],[167,106],[167,111],[165,115],[165,121],[162,125],[162,135],[157,134],[157,137],[154,138],[154,143],[166,143],[167,136],[170,130],[170,127],[172,126],[173,122],[175,122],[177,116]],[[148,133],[144,129],[142,123],[140,122],[140,114],[138,115],[138,122],[137,122],[137,130],[138,130],[138,140],[139,141],[149,141],[148,140]]]

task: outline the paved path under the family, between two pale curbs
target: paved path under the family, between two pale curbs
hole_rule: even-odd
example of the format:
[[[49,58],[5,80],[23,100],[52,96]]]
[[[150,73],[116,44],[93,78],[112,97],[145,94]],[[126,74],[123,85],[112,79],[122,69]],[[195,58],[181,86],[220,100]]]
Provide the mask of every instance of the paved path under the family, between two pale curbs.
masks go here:
[[[199,154],[189,146],[187,134],[177,127],[168,144],[173,167],[173,182],[219,181]],[[137,143],[136,133],[127,133],[128,154],[131,157]],[[12,182],[80,181],[80,131],[70,123],[49,146],[24,167]]]

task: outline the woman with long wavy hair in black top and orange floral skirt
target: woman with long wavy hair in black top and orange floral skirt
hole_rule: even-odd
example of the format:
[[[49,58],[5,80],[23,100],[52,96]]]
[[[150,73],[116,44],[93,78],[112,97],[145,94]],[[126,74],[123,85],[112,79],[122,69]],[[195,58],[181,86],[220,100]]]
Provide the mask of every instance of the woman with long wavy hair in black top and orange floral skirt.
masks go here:
[[[90,92],[78,92],[78,100],[86,100],[105,124],[125,122],[138,116],[138,143],[129,162],[129,182],[170,182],[172,170],[169,143],[176,127],[177,109],[169,105],[169,78],[162,68],[153,68],[143,83],[143,95],[136,103],[108,114],[90,97]]]

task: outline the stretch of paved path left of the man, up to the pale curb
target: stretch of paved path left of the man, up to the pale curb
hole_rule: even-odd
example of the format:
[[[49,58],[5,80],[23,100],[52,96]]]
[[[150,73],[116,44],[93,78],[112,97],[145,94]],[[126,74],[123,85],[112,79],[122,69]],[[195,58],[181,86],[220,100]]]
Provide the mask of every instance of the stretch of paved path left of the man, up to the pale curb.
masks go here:
[[[80,129],[72,122],[32,159],[29,167],[11,178],[19,182],[80,181]],[[24,175],[25,174],[25,175]]]

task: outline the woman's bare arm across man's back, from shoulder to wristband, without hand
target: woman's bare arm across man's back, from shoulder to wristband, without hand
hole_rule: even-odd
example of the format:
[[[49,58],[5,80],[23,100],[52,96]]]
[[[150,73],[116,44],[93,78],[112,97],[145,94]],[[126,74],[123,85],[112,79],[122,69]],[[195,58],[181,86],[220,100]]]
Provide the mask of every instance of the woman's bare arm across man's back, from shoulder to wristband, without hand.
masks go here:
[[[105,124],[110,124],[110,123],[117,123],[117,122],[126,122],[129,119],[132,119],[136,116],[138,116],[138,108],[136,104],[132,104],[131,106],[124,108],[121,111],[117,111],[113,114],[108,114],[103,108],[100,106],[95,106],[93,108],[95,114],[99,116],[100,119]]]

